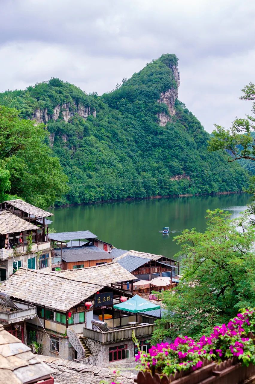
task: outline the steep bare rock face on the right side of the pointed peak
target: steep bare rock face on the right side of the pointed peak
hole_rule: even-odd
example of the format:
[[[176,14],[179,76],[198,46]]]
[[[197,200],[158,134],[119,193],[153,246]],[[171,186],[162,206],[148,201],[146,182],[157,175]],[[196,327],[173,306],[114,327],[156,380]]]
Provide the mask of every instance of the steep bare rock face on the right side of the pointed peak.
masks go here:
[[[178,72],[178,68],[176,65],[172,65],[170,67],[173,71],[173,76],[175,78],[175,82],[177,84],[177,88],[170,88],[167,89],[167,91],[162,92],[160,94],[160,98],[158,100],[158,103],[165,103],[168,106],[168,114],[165,112],[161,112],[157,114],[159,125],[165,126],[167,122],[171,121],[171,116],[175,114],[175,100],[178,98],[178,87],[180,85],[180,72]]]

